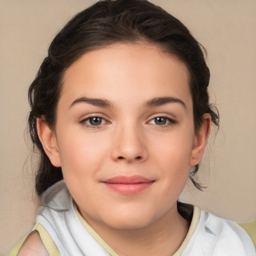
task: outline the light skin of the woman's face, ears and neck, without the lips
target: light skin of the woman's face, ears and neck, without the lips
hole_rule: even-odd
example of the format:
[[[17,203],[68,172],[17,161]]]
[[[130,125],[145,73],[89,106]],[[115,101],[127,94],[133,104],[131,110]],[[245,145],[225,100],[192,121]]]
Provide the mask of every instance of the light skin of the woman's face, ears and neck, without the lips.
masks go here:
[[[54,130],[37,121],[81,215],[120,256],[172,255],[186,235],[176,200],[210,129],[204,114],[194,131],[188,81],[186,66],[155,45],[113,44],[67,68]],[[95,116],[99,125],[92,125]],[[152,184],[121,194],[103,182],[117,175]]]

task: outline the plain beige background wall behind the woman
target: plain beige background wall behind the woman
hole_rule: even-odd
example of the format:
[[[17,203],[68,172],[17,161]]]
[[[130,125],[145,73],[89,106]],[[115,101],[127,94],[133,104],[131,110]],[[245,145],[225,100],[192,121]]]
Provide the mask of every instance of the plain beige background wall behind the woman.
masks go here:
[[[27,88],[56,31],[93,0],[0,0],[0,255],[33,226],[36,196],[24,141]],[[208,51],[220,129],[199,192],[181,198],[236,221],[256,219],[256,1],[154,0]],[[208,156],[209,155],[209,156]]]

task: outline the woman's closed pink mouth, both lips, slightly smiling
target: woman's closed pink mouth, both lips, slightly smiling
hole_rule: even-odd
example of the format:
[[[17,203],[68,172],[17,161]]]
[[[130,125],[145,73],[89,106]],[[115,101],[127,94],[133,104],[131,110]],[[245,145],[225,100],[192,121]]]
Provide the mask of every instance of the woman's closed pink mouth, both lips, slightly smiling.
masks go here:
[[[150,187],[155,180],[143,176],[119,175],[102,181],[108,188],[120,194],[132,195],[142,192]]]

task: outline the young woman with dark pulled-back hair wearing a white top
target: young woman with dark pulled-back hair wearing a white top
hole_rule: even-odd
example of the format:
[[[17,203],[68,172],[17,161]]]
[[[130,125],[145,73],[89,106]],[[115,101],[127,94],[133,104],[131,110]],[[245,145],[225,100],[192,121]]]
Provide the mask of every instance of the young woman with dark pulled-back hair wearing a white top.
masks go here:
[[[177,202],[218,126],[208,82],[202,46],[148,1],[72,18],[29,88],[41,206],[10,255],[254,255],[235,223]]]

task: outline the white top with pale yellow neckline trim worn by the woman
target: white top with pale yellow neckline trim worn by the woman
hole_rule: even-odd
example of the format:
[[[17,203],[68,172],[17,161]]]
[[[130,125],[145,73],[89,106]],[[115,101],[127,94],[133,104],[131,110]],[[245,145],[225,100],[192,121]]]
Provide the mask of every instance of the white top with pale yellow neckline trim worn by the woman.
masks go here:
[[[36,221],[47,231],[61,256],[118,256],[73,206],[63,180],[44,192]],[[44,245],[49,251],[50,242]],[[255,256],[256,253],[249,236],[236,223],[193,206],[188,233],[173,254],[187,255]]]

